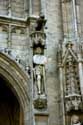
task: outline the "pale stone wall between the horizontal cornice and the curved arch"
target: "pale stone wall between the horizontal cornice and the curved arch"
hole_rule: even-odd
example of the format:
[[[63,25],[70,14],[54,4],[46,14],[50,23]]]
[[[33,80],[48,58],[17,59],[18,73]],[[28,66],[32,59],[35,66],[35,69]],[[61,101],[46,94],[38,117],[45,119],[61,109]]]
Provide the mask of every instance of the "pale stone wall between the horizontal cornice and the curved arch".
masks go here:
[[[25,67],[29,62],[29,31],[26,26],[14,26],[13,23],[5,25],[0,22],[0,50],[8,48],[11,50],[13,58],[21,59],[21,64]],[[6,22],[7,23],[7,22]],[[11,25],[11,26],[10,26]]]

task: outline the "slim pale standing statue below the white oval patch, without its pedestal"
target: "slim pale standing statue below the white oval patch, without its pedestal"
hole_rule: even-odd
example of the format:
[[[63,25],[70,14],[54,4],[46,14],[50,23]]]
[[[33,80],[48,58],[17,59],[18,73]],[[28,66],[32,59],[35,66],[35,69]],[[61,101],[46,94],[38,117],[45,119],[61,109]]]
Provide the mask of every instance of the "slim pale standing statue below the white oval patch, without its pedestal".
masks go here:
[[[45,95],[45,68],[43,65],[36,65],[34,68],[34,79],[38,95]]]

